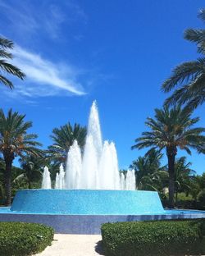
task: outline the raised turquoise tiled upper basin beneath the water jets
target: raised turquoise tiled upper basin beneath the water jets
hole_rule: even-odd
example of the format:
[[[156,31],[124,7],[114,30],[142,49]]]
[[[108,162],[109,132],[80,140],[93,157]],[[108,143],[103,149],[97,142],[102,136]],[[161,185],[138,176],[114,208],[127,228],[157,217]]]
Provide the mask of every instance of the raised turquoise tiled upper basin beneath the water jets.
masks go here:
[[[134,215],[164,213],[157,192],[140,190],[19,190],[11,212]]]

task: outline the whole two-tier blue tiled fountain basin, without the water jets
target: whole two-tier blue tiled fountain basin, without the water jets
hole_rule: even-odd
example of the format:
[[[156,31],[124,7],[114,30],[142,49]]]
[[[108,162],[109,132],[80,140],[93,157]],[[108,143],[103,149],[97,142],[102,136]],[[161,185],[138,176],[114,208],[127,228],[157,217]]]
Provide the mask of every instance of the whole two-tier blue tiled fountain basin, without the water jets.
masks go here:
[[[157,192],[133,190],[20,190],[0,222],[35,222],[59,234],[100,234],[106,222],[205,218],[205,211],[164,210]]]

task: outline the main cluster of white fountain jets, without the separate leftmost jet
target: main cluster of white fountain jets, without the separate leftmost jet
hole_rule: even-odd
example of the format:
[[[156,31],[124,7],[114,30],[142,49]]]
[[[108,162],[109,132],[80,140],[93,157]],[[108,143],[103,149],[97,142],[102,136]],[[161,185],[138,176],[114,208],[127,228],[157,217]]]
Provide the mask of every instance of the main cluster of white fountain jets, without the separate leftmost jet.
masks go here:
[[[75,140],[67,153],[66,171],[61,165],[56,177],[56,189],[71,190],[135,190],[134,171],[120,175],[116,147],[103,143],[96,102],[89,114],[84,153]]]

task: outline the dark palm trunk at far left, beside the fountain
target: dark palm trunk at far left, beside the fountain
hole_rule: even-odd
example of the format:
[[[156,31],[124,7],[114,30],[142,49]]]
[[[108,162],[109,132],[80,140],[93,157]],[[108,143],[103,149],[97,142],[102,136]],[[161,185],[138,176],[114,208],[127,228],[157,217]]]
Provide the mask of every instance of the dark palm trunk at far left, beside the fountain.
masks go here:
[[[5,190],[6,190],[6,205],[11,205],[11,167],[13,160],[5,158]]]

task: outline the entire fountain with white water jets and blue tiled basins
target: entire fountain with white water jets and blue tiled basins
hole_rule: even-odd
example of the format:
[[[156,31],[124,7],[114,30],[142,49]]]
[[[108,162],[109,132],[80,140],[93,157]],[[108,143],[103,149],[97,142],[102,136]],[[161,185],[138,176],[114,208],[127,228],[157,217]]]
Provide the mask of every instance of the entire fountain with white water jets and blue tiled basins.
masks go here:
[[[41,190],[19,190],[0,221],[39,222],[58,233],[99,234],[104,222],[205,217],[203,211],[164,210],[155,191],[135,190],[134,171],[119,172],[116,147],[102,139],[94,102],[83,153],[75,140],[51,188],[44,167]]]

